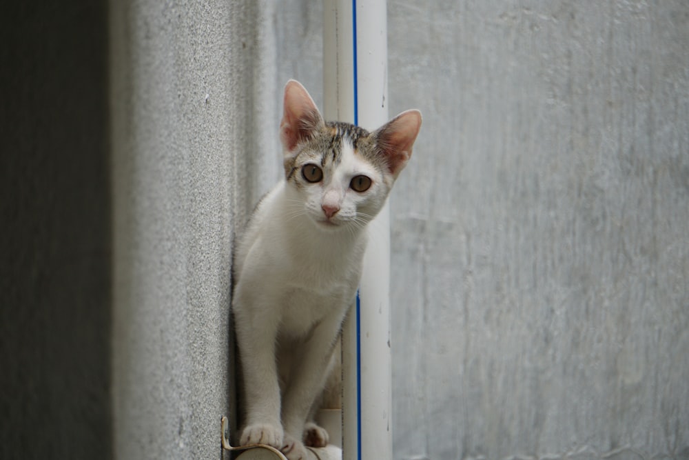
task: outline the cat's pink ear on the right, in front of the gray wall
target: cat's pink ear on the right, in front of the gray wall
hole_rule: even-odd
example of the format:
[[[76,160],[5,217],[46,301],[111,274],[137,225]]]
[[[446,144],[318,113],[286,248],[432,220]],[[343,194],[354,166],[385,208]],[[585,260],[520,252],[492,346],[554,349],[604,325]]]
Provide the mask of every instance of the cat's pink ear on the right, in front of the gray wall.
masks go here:
[[[373,133],[378,150],[384,154],[390,173],[395,178],[411,158],[414,141],[421,129],[421,120],[421,112],[407,110]]]

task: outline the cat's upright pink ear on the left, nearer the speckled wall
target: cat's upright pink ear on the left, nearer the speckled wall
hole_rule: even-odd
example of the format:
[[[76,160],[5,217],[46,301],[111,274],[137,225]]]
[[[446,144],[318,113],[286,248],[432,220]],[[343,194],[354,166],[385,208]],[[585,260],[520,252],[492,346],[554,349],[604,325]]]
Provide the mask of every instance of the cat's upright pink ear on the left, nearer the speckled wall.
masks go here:
[[[296,80],[285,85],[284,110],[280,121],[280,141],[291,152],[300,141],[309,139],[325,123],[307,90]]]

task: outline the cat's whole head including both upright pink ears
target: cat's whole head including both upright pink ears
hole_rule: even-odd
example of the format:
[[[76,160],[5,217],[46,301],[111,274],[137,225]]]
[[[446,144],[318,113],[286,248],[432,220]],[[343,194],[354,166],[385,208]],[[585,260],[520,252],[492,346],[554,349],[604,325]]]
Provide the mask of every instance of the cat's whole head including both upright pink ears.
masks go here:
[[[363,228],[380,211],[411,157],[421,128],[407,110],[374,132],[325,123],[303,86],[285,86],[280,141],[291,217],[305,214],[324,230]]]

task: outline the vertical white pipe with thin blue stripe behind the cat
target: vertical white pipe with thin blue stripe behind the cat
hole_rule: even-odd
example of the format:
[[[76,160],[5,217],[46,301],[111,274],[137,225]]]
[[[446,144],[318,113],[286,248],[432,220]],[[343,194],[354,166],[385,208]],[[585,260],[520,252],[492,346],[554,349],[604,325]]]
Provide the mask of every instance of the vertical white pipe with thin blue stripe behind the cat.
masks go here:
[[[384,0],[325,0],[325,117],[369,130],[387,121]],[[369,226],[357,305],[342,331],[343,460],[392,458],[389,210]]]

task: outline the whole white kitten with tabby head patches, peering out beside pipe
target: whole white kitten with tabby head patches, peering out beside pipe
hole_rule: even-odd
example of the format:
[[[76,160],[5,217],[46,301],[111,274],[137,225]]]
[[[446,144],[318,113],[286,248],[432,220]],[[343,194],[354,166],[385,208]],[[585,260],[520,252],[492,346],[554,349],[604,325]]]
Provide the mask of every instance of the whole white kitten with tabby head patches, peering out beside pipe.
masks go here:
[[[311,418],[356,297],[367,223],[411,157],[421,113],[374,132],[326,123],[298,81],[280,122],[285,178],[258,203],[234,259],[232,310],[243,372],[240,444],[306,459],[327,432]]]

